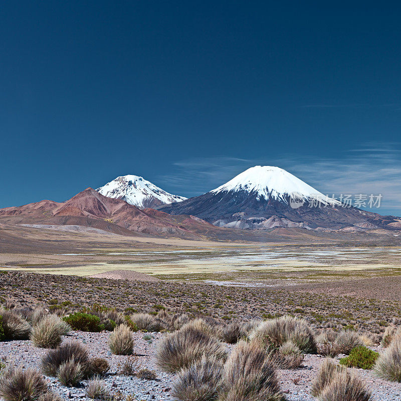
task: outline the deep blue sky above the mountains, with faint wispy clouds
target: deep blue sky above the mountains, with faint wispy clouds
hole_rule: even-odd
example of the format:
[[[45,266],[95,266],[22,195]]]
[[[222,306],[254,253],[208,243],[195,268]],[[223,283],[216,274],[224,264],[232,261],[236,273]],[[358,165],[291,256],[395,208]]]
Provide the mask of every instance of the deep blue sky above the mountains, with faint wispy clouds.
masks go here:
[[[401,213],[397,2],[0,5],[0,207],[254,164]],[[398,202],[398,203],[397,203]]]

